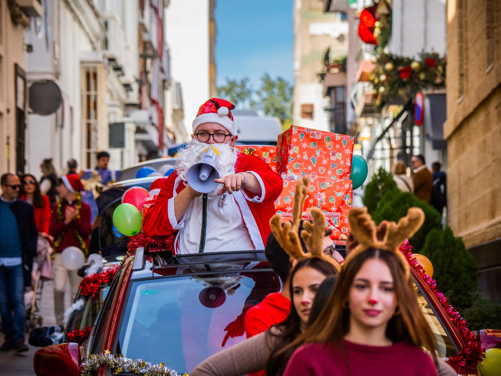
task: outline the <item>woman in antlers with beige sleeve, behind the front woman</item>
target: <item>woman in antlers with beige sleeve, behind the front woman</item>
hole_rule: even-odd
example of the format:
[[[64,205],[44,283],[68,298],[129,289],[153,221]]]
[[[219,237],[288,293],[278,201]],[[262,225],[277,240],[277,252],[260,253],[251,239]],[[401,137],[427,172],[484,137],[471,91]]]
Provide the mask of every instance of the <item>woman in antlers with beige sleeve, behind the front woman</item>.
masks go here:
[[[320,284],[328,276],[337,275],[341,269],[336,260],[323,252],[325,219],[320,210],[312,210],[313,222],[304,221],[304,230],[298,234],[308,181],[299,180],[296,185],[292,223],[282,224],[280,216],[270,221],[280,246],[291,260],[297,260],[289,279],[293,303],[289,316],[269,330],[210,356],[190,373],[192,376],[239,376],[263,369],[270,375],[277,375],[285,369],[295,348],[289,352],[283,352],[282,348],[307,327],[311,305]],[[307,253],[302,249],[300,235]]]

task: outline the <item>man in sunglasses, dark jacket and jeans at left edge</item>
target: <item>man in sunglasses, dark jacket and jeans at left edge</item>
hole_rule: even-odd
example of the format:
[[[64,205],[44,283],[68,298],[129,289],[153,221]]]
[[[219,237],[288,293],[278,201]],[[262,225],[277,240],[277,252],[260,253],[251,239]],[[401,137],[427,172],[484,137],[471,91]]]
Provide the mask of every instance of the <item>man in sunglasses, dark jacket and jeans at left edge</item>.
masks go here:
[[[25,344],[25,287],[31,286],[37,226],[33,207],[18,200],[21,181],[2,175],[0,197],[0,316],[5,342],[0,350],[28,351]]]

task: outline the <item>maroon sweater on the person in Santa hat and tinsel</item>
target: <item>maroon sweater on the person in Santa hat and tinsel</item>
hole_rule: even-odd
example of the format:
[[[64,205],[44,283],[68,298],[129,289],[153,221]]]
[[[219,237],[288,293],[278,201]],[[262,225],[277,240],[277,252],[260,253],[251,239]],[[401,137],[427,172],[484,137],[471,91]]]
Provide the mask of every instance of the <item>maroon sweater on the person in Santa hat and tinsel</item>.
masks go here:
[[[63,201],[63,207],[61,208],[61,213],[65,213],[65,208],[68,206],[68,202],[65,200]],[[71,205],[73,208],[77,206],[77,202],[73,202]],[[86,204],[82,203],[82,210],[80,213],[80,218],[75,219],[72,221],[69,225],[65,225],[64,221],[61,223],[58,223],[58,215],[57,215],[57,208],[58,204],[56,203],[52,207],[52,214],[51,214],[51,223],[49,226],[49,231],[50,234],[53,237],[57,237],[59,234],[63,233],[63,238],[61,239],[61,244],[59,247],[56,249],[56,252],[63,252],[63,250],[67,247],[77,247],[80,248],[80,243],[73,233],[73,229],[76,228],[80,236],[82,237],[83,240],[86,241],[87,246],[89,245],[89,235],[91,234],[91,207]]]

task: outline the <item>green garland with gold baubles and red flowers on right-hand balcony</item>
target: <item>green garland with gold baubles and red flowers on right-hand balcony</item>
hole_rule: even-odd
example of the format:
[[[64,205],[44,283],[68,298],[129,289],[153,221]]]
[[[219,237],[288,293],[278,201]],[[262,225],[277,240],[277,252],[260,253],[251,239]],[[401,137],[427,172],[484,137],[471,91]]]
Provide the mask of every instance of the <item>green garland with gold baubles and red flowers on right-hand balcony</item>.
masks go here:
[[[407,102],[422,90],[444,88],[445,68],[445,57],[434,52],[421,53],[419,59],[382,53],[369,75],[378,109],[398,98]]]

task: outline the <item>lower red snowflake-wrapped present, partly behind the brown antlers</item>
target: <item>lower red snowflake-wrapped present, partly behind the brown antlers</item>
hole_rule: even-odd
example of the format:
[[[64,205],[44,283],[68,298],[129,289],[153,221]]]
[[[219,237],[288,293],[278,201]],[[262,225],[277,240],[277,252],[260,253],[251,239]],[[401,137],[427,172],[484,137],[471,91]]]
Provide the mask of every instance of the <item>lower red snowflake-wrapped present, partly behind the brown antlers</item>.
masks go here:
[[[284,179],[284,190],[275,202],[277,214],[292,220],[296,179]],[[310,219],[311,208],[324,213],[325,226],[332,229],[333,240],[346,240],[349,232],[348,212],[353,206],[353,184],[347,179],[312,178],[303,207],[303,218]]]

